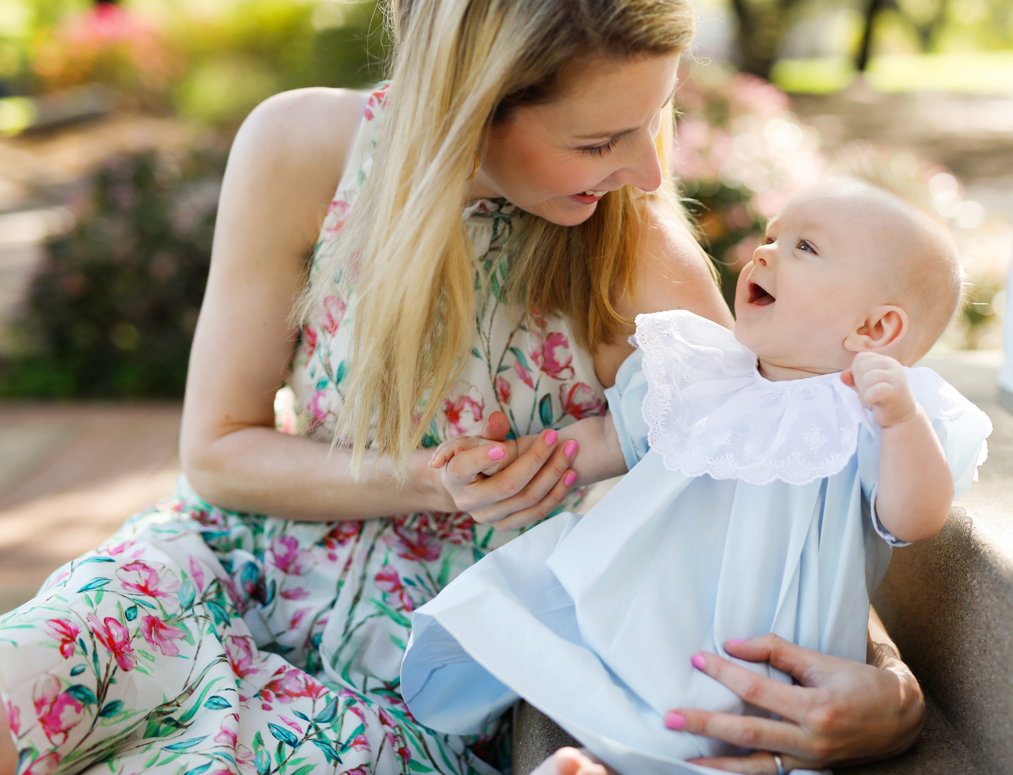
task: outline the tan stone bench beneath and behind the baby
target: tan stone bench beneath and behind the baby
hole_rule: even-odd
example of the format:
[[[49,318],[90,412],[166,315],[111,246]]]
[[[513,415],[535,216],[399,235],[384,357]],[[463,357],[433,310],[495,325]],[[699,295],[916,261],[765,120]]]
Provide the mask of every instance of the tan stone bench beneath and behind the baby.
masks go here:
[[[923,364],[988,412],[989,462],[938,536],[893,552],[873,600],[925,691],[925,731],[894,759],[834,773],[1013,775],[1013,415],[997,401],[997,354]],[[514,717],[514,775],[574,745],[527,703]]]

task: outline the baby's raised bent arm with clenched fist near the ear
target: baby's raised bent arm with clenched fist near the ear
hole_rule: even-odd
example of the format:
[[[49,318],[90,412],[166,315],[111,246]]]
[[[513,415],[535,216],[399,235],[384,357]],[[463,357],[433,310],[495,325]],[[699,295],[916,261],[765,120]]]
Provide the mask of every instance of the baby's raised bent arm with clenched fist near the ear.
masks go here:
[[[881,429],[879,521],[902,541],[932,538],[949,516],[953,474],[904,367],[888,356],[859,353],[841,379],[855,388]]]

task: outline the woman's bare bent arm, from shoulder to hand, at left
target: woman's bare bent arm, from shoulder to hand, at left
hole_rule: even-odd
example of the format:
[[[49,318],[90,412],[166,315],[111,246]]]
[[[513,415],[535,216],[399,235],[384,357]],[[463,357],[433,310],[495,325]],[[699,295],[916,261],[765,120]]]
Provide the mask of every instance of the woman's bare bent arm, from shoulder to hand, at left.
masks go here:
[[[464,508],[460,492],[434,475],[426,451],[412,456],[408,484],[399,487],[386,461],[368,460],[354,479],[343,450],[275,430],[275,393],[296,343],[289,315],[365,99],[339,89],[279,94],[250,114],[233,144],[180,434],[183,471],[216,506],[301,520]],[[533,445],[472,488],[469,505],[523,494],[547,514],[569,489],[559,483],[568,464],[561,445]]]

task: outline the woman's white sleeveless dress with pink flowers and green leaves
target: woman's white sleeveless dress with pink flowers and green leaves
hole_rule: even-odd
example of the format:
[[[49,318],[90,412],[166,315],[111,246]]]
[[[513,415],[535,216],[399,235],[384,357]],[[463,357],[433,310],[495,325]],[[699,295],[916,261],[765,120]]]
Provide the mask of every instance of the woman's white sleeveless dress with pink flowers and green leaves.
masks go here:
[[[369,98],[318,249],[368,178],[385,96]],[[529,328],[502,304],[513,213],[501,201],[464,211],[484,302],[427,444],[476,433],[495,409],[516,435],[606,409],[565,322]],[[354,289],[339,280],[276,401],[288,433],[325,436],[339,410],[355,317]],[[17,772],[494,773],[494,737],[419,724],[399,669],[411,612],[516,535],[463,513],[291,522],[215,508],[180,480],[0,617]]]

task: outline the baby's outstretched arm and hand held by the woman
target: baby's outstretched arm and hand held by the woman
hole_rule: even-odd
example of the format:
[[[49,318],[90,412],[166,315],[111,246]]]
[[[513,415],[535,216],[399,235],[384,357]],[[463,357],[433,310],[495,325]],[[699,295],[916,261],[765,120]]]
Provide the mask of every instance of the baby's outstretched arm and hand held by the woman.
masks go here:
[[[489,454],[490,465],[482,471],[482,473],[491,476],[517,460],[536,439],[538,436],[534,435],[499,442],[482,439],[478,436],[462,436],[450,439],[437,447],[430,465],[434,468],[441,468],[458,452],[480,445],[492,444],[494,447]],[[576,445],[572,450],[566,450],[568,457],[573,456],[569,454],[571,451],[575,453],[576,450],[579,450],[580,452],[580,457],[574,467],[577,478],[572,482],[567,482],[567,484],[592,484],[596,481],[619,476],[627,471],[626,461],[619,444],[619,436],[616,434],[611,413],[603,417],[588,417],[567,425],[558,432],[557,439],[558,441],[553,441],[552,444]],[[495,450],[496,447],[498,451]],[[499,454],[500,452],[502,454]]]

